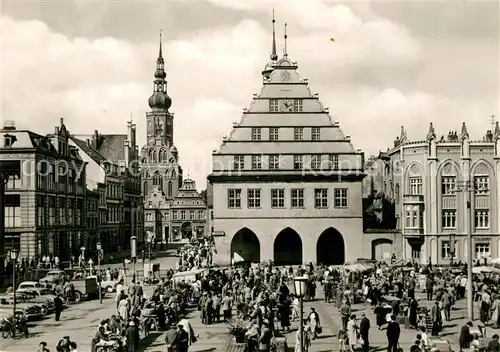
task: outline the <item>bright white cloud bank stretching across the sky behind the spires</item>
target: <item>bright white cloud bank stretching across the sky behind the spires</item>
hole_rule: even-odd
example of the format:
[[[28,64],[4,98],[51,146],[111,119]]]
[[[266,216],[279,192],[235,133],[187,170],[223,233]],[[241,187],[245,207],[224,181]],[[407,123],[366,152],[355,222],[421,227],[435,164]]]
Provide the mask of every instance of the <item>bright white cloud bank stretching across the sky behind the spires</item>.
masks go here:
[[[174,140],[186,174],[199,188],[211,171],[212,150],[220,147],[223,135],[229,135],[232,122],[240,120],[252,92],[261,89],[260,72],[271,46],[270,18],[265,25],[255,19],[264,13],[270,17],[268,2],[213,5],[230,8],[243,19],[236,25],[184,32],[164,43],[168,93],[175,112]],[[407,126],[410,137],[419,139],[428,121],[439,121],[436,128],[442,125],[447,132],[477,116],[486,120],[495,107],[491,96],[483,94],[474,81],[474,94],[460,101],[415,84],[423,64],[433,67],[425,71],[427,78],[437,79],[439,66],[422,61],[432,52],[425,51],[404,26],[367,6],[357,11],[319,1],[305,6],[293,0],[275,7],[279,22],[289,21],[290,57],[298,61],[311,90],[320,93],[356,147],[367,153],[390,146],[401,125]],[[129,24],[134,26],[133,21]],[[64,116],[75,133],[94,129],[124,133],[132,113],[142,147],[158,53],[155,38],[141,43],[113,37],[71,38],[43,22],[7,16],[2,17],[0,29],[3,119],[46,133]],[[282,26],[277,32],[282,47]],[[468,67],[459,56],[454,59],[456,71]],[[472,59],[471,54],[467,59]],[[444,65],[443,60],[439,63]],[[475,124],[476,130],[469,125],[471,135],[484,132],[481,124]]]

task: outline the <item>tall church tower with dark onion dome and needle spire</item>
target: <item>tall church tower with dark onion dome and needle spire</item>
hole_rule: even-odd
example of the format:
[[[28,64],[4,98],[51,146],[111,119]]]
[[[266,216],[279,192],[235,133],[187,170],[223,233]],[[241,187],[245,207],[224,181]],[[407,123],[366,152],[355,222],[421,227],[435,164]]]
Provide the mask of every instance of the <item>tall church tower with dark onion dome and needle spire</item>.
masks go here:
[[[141,149],[142,193],[161,192],[171,200],[182,185],[182,169],[179,154],[173,143],[174,114],[169,111],[172,99],[167,94],[167,74],[160,49],[156,60],[153,94],[149,98],[151,111],[146,113],[146,145]]]

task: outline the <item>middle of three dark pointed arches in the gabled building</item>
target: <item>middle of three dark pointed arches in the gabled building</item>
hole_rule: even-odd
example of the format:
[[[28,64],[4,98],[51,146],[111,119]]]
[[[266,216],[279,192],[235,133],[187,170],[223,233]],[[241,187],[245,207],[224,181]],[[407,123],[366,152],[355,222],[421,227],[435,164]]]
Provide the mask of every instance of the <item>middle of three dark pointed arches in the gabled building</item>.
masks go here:
[[[275,265],[302,264],[302,239],[299,234],[287,227],[274,240]]]

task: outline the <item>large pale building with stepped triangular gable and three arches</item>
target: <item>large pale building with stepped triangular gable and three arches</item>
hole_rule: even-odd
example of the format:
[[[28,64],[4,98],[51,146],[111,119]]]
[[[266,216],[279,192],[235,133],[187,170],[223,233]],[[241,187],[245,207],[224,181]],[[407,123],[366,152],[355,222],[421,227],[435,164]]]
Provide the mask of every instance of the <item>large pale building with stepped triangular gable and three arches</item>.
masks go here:
[[[260,94],[213,153],[207,194],[216,261],[330,265],[370,257],[363,153],[332,121],[297,63],[286,51],[278,59],[274,43]]]

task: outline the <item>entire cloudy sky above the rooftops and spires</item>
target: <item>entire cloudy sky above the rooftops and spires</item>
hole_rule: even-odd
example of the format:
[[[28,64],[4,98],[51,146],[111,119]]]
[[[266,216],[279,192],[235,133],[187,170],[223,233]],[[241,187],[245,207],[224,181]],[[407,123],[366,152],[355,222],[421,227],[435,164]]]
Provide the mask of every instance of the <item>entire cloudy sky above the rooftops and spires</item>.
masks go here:
[[[466,122],[472,139],[500,116],[500,8],[448,1],[2,1],[2,120],[50,133],[126,133],[145,142],[159,32],[174,142],[203,189],[212,150],[241,119],[277,42],[311,91],[366,156],[393,146],[401,126],[422,140]],[[331,38],[334,40],[332,41]],[[3,121],[2,121],[3,122]]]

